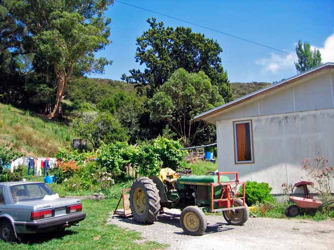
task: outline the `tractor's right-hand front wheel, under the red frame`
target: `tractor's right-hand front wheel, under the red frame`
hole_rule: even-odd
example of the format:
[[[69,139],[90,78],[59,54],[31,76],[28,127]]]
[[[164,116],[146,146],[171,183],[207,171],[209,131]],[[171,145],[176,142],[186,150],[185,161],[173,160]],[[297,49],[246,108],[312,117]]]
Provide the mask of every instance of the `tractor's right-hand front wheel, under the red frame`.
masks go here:
[[[235,199],[234,200],[234,207],[242,207],[242,199]],[[234,226],[243,225],[249,217],[249,210],[248,206],[245,203],[245,208],[237,209],[237,210],[227,210],[223,211],[224,219],[227,221],[228,224]]]

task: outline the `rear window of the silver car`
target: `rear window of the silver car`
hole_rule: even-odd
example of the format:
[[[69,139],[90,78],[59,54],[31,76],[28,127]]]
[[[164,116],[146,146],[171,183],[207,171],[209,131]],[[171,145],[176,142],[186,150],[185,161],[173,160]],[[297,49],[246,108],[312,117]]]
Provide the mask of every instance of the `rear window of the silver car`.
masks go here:
[[[22,184],[11,186],[13,202],[30,201],[33,199],[43,199],[45,195],[55,194],[46,184]]]

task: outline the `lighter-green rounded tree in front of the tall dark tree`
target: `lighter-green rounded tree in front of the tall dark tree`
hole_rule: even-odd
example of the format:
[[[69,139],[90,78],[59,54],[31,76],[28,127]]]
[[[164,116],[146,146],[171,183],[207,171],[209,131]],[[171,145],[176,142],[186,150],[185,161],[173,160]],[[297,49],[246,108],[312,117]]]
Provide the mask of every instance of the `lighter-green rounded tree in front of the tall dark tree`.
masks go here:
[[[166,121],[190,146],[197,134],[208,124],[194,121],[194,115],[224,104],[218,86],[212,85],[204,72],[188,73],[185,69],[175,71],[162,84],[149,101],[150,118]]]

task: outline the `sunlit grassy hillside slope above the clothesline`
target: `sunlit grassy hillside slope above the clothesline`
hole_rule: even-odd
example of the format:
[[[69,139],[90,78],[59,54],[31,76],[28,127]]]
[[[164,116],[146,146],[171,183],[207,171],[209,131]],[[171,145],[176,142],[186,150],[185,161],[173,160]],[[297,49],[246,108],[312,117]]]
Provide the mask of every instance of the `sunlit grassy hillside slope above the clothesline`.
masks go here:
[[[74,137],[68,126],[11,105],[0,104],[0,121],[0,143],[26,156],[52,157],[58,147],[71,145]]]

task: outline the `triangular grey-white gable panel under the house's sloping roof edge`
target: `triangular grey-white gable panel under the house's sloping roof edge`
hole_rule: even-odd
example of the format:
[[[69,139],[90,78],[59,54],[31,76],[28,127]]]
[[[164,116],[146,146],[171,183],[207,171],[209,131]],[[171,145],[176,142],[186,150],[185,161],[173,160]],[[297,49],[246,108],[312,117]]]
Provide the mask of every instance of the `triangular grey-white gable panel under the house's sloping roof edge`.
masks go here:
[[[260,99],[254,99],[208,121],[228,120],[334,108],[334,70],[291,84]]]

